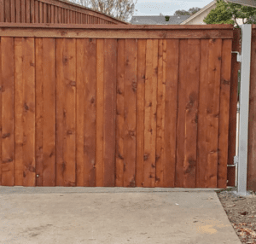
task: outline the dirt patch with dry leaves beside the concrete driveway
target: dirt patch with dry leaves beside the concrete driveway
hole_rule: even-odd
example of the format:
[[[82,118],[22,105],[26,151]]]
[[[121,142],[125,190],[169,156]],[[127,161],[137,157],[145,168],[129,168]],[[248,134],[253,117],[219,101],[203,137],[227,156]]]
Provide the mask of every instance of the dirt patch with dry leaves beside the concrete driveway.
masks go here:
[[[234,194],[236,188],[218,190],[217,195],[241,243],[256,244],[256,194]]]

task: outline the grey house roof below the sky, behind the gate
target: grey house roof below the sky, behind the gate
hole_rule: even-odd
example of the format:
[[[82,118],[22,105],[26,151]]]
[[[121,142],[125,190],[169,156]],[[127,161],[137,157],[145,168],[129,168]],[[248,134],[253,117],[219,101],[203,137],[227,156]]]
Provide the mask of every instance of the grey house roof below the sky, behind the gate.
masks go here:
[[[166,21],[165,16],[148,15],[148,16],[132,16],[131,24],[133,25],[179,25],[183,20],[189,18],[190,15],[170,16]]]

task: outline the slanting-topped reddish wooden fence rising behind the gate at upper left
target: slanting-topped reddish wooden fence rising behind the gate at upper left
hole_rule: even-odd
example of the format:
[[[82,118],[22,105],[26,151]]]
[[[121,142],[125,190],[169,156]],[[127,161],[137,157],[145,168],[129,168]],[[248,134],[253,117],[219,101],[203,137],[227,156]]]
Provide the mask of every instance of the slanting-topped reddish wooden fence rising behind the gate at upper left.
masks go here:
[[[127,24],[62,0],[0,0],[0,22],[55,24]]]

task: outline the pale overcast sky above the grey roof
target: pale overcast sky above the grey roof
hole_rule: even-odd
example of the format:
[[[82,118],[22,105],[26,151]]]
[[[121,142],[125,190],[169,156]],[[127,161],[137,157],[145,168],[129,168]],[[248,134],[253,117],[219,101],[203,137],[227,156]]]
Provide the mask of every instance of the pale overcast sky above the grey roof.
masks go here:
[[[189,10],[193,7],[203,8],[212,0],[137,0],[134,15],[173,15],[176,10]]]

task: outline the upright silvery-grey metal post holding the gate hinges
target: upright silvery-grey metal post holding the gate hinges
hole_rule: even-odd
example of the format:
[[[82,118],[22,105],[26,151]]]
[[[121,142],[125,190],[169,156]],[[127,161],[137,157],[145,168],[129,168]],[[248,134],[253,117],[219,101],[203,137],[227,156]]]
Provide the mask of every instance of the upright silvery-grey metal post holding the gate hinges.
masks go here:
[[[248,142],[248,112],[251,67],[252,25],[241,26],[241,89],[240,89],[240,119],[239,148],[237,166],[237,195],[247,195],[247,142]]]

